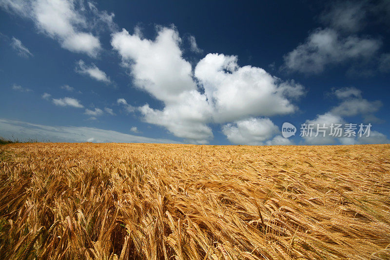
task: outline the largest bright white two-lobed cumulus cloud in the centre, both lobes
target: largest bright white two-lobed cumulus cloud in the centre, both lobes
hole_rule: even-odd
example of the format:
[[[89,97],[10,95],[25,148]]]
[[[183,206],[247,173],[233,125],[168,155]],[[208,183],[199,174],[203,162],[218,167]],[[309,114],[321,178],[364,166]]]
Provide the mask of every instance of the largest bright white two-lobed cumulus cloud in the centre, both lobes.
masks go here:
[[[134,84],[164,103],[162,110],[149,104],[138,107],[144,121],[190,142],[207,143],[213,138],[210,123],[296,110],[289,99],[303,95],[301,85],[283,82],[261,68],[239,67],[237,57],[223,54],[208,54],[193,74],[191,63],[182,57],[176,29],[157,31],[156,39],[148,40],[139,29],[134,34],[123,29],[111,40]]]

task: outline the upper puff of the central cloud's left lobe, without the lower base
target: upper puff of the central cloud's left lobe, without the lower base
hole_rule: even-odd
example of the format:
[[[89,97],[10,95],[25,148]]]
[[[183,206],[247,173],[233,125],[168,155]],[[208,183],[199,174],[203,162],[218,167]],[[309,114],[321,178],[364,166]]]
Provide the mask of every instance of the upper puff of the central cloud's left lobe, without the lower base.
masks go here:
[[[180,41],[170,28],[160,28],[155,41],[123,29],[113,34],[111,44],[131,68],[137,87],[164,102],[175,102],[182,92],[196,90],[191,64],[181,57]]]

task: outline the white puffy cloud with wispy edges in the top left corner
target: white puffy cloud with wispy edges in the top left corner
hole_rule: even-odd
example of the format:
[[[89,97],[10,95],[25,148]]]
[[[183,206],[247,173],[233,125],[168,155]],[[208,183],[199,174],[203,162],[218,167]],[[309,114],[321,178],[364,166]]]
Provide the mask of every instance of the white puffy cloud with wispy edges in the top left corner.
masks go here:
[[[99,12],[95,5],[73,0],[1,0],[0,6],[10,13],[33,20],[39,31],[58,40],[72,52],[97,57],[101,44],[91,31],[104,20],[112,24],[113,15]],[[92,15],[92,20],[87,16]],[[100,23],[99,23],[100,24]]]

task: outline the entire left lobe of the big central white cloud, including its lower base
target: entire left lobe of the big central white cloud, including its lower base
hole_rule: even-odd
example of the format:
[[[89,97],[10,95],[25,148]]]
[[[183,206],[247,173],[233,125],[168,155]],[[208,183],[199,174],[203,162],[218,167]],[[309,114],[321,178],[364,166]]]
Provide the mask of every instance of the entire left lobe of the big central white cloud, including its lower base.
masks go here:
[[[144,120],[166,127],[177,137],[194,143],[212,138],[206,125],[210,106],[197,91],[190,62],[182,58],[181,39],[172,28],[159,28],[156,40],[142,39],[139,31],[115,33],[111,40],[122,61],[131,69],[135,85],[164,102],[163,110],[144,105],[139,108]]]

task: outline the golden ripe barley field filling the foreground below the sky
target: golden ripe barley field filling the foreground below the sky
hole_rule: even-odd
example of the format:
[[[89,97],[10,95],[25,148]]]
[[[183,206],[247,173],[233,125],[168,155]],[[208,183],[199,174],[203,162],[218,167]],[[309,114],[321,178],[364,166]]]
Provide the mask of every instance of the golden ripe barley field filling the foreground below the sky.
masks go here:
[[[0,146],[0,259],[389,259],[390,145]]]

